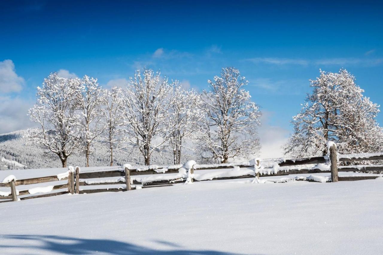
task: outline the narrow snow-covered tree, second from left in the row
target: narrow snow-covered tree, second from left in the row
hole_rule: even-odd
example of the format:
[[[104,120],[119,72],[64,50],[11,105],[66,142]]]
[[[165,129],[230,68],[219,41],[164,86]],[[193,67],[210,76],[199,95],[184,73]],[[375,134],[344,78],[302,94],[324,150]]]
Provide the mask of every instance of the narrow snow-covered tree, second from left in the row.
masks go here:
[[[101,103],[103,91],[98,85],[97,78],[85,75],[80,86],[81,93],[77,98],[81,112],[82,134],[85,150],[85,166],[89,167],[89,155],[92,153],[92,144],[102,134],[104,127],[101,124]]]

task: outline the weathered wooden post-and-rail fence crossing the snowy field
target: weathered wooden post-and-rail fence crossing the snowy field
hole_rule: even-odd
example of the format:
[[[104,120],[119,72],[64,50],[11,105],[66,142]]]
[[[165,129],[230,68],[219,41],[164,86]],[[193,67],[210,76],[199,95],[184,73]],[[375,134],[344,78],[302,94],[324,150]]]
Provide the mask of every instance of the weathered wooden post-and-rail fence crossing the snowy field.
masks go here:
[[[69,170],[67,173],[61,175],[47,176],[47,177],[38,177],[38,178],[30,178],[23,180],[10,180],[7,183],[0,183],[0,187],[10,187],[9,195],[1,196],[0,202],[8,202],[8,201],[18,201],[25,200],[31,198],[41,198],[48,196],[57,196],[62,194],[84,194],[84,193],[97,193],[97,192],[118,192],[118,191],[128,191],[134,190],[137,188],[151,188],[151,187],[160,187],[160,186],[172,186],[176,183],[185,183],[187,181],[195,182],[195,181],[208,181],[208,180],[228,180],[228,179],[240,179],[240,178],[254,178],[254,177],[265,177],[265,176],[278,176],[278,175],[290,175],[290,174],[304,174],[304,173],[330,173],[331,172],[331,180],[332,182],[337,181],[356,181],[356,180],[368,180],[375,179],[377,176],[357,176],[357,177],[339,177],[338,171],[341,172],[357,172],[357,171],[382,171],[383,166],[345,166],[338,167],[338,162],[343,161],[365,161],[365,160],[383,160],[383,152],[359,155],[337,155],[336,146],[332,145],[330,147],[329,156],[323,157],[311,157],[306,159],[292,159],[292,160],[284,160],[284,159],[271,159],[271,160],[256,160],[255,164],[250,164],[250,162],[242,162],[242,163],[224,163],[224,164],[211,164],[211,165],[198,165],[194,164],[190,169],[186,169],[186,174],[182,176],[177,176],[172,179],[165,180],[152,180],[152,181],[139,181],[136,178],[131,178],[131,176],[137,175],[157,175],[157,174],[169,174],[169,173],[179,173],[179,169],[183,167],[183,165],[173,165],[168,167],[158,167],[158,166],[142,166],[142,167],[125,167],[123,170],[109,170],[109,171],[97,171],[97,172],[80,172],[80,168],[76,167],[74,170]],[[259,171],[260,166],[264,163],[271,163],[272,167],[264,167],[262,171]],[[311,164],[328,164],[330,163],[330,170],[323,170],[321,168],[298,168],[298,169],[285,169],[286,167],[294,167],[298,165],[311,165]],[[269,164],[270,165],[270,164]],[[277,171],[272,170],[281,167]],[[234,167],[238,168],[247,168],[247,174],[239,174],[232,176],[223,176],[223,177],[213,177],[208,179],[198,179],[194,178],[195,170],[217,170],[217,169],[232,169]],[[285,167],[285,168],[283,168]],[[92,178],[109,178],[109,177],[120,177],[118,180],[101,180],[101,181],[88,181],[87,179]],[[61,185],[49,186],[47,189],[51,192],[53,190],[63,190],[55,193],[47,193],[43,195],[34,195],[34,196],[25,196],[25,195],[33,195],[34,192],[31,193],[31,190],[22,190],[17,191],[16,186],[19,185],[30,185],[36,183],[48,183],[53,181],[62,181],[67,180],[67,183]],[[307,180],[306,178],[297,178],[296,180]],[[97,185],[123,185],[119,188],[98,188],[98,189],[85,189],[80,190],[80,186],[97,186]],[[132,186],[133,185],[133,186]],[[142,185],[142,186],[137,186]],[[44,190],[39,190],[36,193],[44,192]],[[18,196],[24,196],[18,198]]]

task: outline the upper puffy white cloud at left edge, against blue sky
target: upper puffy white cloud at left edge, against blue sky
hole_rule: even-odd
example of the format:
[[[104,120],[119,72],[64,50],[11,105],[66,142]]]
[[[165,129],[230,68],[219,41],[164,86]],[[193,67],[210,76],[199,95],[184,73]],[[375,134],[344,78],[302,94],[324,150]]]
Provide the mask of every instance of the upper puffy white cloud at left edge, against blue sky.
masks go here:
[[[25,81],[16,74],[15,64],[10,59],[0,62],[0,92],[20,92]]]

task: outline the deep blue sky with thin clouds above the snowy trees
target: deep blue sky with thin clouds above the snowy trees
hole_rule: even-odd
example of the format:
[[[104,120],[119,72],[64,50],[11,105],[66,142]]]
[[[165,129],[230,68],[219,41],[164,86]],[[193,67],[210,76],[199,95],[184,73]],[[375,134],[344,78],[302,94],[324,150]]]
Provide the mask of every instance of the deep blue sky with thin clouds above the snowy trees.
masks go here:
[[[382,13],[368,1],[2,1],[0,62],[11,60],[17,84],[0,78],[0,132],[30,126],[25,111],[50,72],[87,74],[108,87],[147,65],[204,89],[234,66],[264,111],[260,136],[273,152],[320,68],[346,68],[383,104]]]

